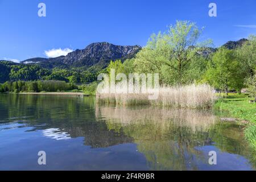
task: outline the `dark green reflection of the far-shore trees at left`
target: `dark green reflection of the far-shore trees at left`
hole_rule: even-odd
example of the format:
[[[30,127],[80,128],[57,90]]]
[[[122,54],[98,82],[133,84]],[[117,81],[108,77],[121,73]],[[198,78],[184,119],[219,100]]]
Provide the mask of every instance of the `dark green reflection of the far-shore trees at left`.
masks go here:
[[[0,107],[0,120],[26,116],[38,122],[45,122],[46,119],[49,122],[62,122],[92,117],[94,102],[92,99],[84,102],[84,98],[72,96],[2,94]]]

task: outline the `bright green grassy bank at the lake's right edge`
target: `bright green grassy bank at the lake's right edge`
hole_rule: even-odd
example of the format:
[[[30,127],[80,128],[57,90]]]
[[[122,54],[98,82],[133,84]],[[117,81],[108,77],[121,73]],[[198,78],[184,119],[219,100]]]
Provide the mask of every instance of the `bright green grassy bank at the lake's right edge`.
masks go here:
[[[229,111],[232,117],[249,122],[245,129],[245,138],[256,150],[256,104],[250,104],[249,100],[253,99],[245,94],[229,94],[216,101],[214,107]]]

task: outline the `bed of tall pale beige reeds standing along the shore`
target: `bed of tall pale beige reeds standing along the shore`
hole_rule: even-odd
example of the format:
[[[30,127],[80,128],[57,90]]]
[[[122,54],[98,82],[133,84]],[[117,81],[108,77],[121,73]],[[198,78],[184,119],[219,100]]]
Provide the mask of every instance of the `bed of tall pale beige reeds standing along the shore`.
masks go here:
[[[158,98],[149,100],[154,89],[147,93],[102,93],[97,90],[96,101],[100,103],[115,103],[118,105],[158,105],[187,108],[209,108],[213,105],[215,94],[209,85],[162,86]]]

